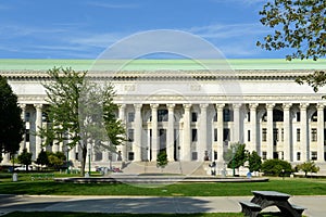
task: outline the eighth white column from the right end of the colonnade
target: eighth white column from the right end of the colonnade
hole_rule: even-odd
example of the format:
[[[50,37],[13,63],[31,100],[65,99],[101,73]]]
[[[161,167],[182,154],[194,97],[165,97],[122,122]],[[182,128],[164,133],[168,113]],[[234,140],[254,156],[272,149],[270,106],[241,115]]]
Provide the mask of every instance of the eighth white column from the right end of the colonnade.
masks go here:
[[[200,128],[198,145],[198,159],[200,162],[204,161],[205,151],[210,151],[208,149],[208,106],[209,104],[200,105]]]

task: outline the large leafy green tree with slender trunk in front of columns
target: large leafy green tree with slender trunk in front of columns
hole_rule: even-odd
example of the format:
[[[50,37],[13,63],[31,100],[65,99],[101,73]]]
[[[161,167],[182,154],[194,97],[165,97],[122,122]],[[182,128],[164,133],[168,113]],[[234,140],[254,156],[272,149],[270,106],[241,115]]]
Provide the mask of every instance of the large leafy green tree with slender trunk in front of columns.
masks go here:
[[[82,176],[89,145],[109,149],[121,144],[124,128],[115,117],[117,105],[113,103],[113,86],[87,82],[87,72],[72,68],[48,71],[50,81],[45,82],[48,102],[47,114],[50,125],[40,129],[43,145],[65,142],[72,149],[82,150]]]

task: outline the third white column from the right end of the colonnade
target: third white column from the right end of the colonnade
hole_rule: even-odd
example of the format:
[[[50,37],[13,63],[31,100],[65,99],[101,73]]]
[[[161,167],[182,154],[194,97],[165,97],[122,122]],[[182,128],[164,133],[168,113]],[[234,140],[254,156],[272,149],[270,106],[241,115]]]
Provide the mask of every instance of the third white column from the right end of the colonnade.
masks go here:
[[[290,130],[290,103],[285,103],[283,105],[284,115],[284,159],[291,162],[291,130]]]

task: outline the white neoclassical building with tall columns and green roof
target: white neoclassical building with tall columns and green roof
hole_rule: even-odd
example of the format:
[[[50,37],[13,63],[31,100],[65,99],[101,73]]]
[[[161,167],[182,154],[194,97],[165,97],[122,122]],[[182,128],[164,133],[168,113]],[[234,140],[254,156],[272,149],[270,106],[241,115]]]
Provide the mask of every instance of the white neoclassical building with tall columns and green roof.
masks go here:
[[[26,133],[22,149],[34,159],[41,149],[63,151],[64,144],[41,146],[35,131],[47,123],[42,81],[53,66],[89,71],[97,82],[111,81],[116,90],[116,115],[126,127],[127,141],[115,153],[91,152],[92,165],[112,162],[154,162],[166,150],[170,162],[223,162],[234,142],[246,143],[264,159],[291,163],[314,161],[321,166],[325,151],[325,93],[313,92],[296,77],[326,69],[318,62],[284,60],[229,60],[223,66],[190,60],[112,61],[97,67],[86,60],[1,60],[0,74],[18,95]],[[115,65],[116,66],[116,65]],[[78,148],[68,150],[75,165]],[[2,163],[7,163],[4,156]]]

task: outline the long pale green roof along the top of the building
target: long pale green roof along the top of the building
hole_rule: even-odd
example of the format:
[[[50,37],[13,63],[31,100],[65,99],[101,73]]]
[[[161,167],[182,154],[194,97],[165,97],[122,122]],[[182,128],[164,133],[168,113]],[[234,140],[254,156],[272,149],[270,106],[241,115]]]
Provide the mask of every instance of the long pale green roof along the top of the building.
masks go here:
[[[326,69],[326,59],[318,61],[284,59],[233,60],[0,60],[0,71],[47,71],[53,67],[75,71],[195,71],[195,69]]]

